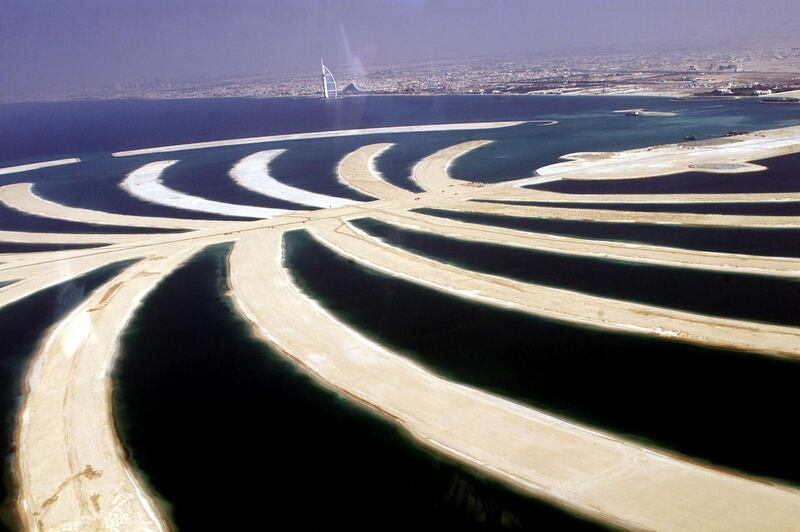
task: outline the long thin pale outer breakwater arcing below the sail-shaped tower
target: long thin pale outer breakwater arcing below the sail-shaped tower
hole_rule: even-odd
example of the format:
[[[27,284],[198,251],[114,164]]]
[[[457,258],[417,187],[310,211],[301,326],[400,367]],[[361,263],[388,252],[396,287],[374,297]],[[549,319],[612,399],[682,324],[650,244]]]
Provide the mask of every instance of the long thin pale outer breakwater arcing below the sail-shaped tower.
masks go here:
[[[457,124],[430,124],[424,126],[390,126],[363,129],[340,129],[336,131],[313,131],[310,133],[289,133],[285,135],[267,135],[264,137],[247,137],[240,139],[212,140],[209,142],[194,142],[190,144],[175,144],[172,146],[159,146],[156,148],[143,148],[138,150],[118,151],[112,153],[114,157],[130,157],[133,155],[147,155],[152,153],[167,153],[173,151],[199,150],[204,148],[219,148],[223,146],[241,146],[244,144],[261,144],[266,142],[279,142],[285,140],[325,139],[335,137],[353,137],[361,135],[378,135],[384,133],[425,133],[431,131],[464,131],[478,129],[497,129],[502,127],[517,126],[524,121],[516,122],[466,122]]]

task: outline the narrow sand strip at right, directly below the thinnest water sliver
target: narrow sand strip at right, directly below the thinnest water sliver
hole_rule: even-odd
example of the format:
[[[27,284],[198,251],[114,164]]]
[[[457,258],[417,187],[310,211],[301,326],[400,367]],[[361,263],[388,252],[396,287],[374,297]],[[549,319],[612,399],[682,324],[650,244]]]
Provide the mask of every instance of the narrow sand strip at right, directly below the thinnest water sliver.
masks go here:
[[[502,203],[463,202],[448,207],[459,212],[478,212],[503,216],[624,222],[648,224],[695,225],[704,227],[800,228],[800,216],[749,216],[737,214],[696,214],[673,212],[626,212],[598,209],[568,209]]]

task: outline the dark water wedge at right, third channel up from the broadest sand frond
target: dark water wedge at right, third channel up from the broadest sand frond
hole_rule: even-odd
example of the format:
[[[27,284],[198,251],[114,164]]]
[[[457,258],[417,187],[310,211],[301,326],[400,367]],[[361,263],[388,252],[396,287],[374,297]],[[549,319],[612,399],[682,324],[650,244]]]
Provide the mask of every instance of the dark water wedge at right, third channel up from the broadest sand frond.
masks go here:
[[[555,220],[429,208],[416,209],[415,212],[462,222],[592,240],[652,244],[746,255],[800,257],[800,230],[797,229]]]

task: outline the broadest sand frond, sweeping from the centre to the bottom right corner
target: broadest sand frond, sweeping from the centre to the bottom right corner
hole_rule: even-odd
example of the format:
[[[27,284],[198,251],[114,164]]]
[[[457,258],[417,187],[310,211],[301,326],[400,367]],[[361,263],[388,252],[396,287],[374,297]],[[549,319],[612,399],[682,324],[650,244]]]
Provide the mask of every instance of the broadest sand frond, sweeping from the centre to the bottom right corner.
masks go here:
[[[274,232],[237,243],[230,280],[241,313],[279,352],[423,445],[617,527],[756,530],[800,522],[794,489],[701,467],[426,371],[308,299],[281,253]]]

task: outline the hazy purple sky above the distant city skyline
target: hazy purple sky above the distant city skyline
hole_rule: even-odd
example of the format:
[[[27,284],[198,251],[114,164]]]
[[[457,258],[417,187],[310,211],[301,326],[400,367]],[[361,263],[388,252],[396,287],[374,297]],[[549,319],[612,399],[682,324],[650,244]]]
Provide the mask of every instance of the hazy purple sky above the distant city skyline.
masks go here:
[[[0,0],[0,96],[795,35],[798,0]]]

